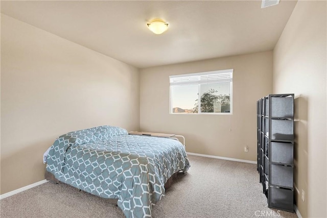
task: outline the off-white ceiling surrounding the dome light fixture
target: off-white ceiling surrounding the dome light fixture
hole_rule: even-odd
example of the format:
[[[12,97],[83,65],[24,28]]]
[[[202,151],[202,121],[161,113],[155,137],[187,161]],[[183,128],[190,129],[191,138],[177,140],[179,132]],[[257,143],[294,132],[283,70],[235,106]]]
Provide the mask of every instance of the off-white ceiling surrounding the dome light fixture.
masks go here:
[[[1,1],[1,12],[144,68],[272,50],[296,1]],[[155,35],[146,23],[164,19]]]

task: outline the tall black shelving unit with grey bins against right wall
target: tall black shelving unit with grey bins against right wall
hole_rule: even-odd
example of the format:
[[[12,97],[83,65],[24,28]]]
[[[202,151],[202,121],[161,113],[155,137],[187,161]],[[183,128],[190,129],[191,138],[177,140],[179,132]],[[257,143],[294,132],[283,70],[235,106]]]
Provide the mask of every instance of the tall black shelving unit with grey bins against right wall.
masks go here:
[[[268,207],[294,212],[294,94],[257,102],[258,165]]]

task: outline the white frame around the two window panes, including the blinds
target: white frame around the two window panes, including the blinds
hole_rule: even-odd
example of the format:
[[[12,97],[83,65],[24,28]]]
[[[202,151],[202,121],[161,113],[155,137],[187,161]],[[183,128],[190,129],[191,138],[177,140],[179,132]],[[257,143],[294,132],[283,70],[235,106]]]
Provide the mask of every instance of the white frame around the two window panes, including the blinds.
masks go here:
[[[194,74],[182,74],[169,76],[170,80],[170,114],[211,114],[211,115],[231,115],[232,114],[232,78],[233,69],[215,70],[207,72],[197,72]],[[230,93],[230,111],[229,112],[201,112],[201,96],[200,86],[201,84],[209,83],[226,83],[229,82]],[[198,113],[173,113],[172,108],[172,86],[174,85],[198,85]]]

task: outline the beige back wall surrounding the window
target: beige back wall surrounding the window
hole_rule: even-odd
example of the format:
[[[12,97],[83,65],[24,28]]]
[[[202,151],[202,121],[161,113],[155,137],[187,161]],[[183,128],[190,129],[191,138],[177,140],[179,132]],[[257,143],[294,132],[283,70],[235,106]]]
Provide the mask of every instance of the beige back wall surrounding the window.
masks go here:
[[[169,114],[170,75],[230,68],[232,115]],[[271,51],[146,68],[140,77],[142,131],[184,135],[187,152],[256,161],[256,100],[272,91]]]

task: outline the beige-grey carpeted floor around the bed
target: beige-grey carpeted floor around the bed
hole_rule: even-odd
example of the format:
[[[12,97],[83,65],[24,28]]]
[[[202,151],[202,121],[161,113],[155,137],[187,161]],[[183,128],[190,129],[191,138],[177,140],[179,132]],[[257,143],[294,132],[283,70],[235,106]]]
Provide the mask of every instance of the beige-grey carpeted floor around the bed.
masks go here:
[[[271,210],[256,165],[189,156],[191,168],[179,174],[153,217],[289,217]],[[1,217],[125,217],[114,203],[64,184],[50,182],[0,201]]]

